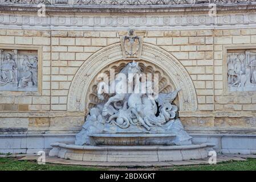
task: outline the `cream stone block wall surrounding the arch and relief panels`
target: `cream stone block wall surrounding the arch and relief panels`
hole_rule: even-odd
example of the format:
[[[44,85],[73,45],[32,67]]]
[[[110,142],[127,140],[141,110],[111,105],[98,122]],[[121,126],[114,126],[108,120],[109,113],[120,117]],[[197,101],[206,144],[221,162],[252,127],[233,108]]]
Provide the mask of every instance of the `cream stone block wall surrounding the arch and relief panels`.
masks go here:
[[[95,52],[119,43],[118,31],[1,30],[1,48],[40,47],[38,93],[1,92],[2,133],[76,133],[84,112],[69,112],[67,97],[74,75]],[[188,71],[197,94],[197,110],[181,111],[190,132],[254,133],[256,93],[226,92],[227,49],[250,49],[256,29],[146,31],[145,43],[172,54]],[[13,130],[8,130],[11,128]],[[16,130],[15,130],[16,129]],[[23,129],[23,130],[22,130]]]

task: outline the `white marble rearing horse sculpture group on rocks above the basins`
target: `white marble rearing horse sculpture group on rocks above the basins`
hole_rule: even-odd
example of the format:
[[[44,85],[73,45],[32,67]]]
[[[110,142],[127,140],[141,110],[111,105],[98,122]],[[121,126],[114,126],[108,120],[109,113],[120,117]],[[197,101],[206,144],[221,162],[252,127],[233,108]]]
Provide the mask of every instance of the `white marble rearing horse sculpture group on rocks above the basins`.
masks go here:
[[[140,74],[140,67],[134,61],[128,63],[120,73],[127,77],[129,73]],[[136,83],[125,80],[134,90],[136,86],[143,84],[140,80]],[[110,83],[118,88],[121,84],[118,76]],[[90,145],[91,134],[175,134],[173,144],[191,144],[191,139],[184,130],[180,119],[177,118],[178,107],[173,105],[179,90],[170,93],[159,93],[158,97],[152,98],[152,93],[104,93],[101,81],[98,84],[97,97],[103,100],[90,110],[82,131],[76,135],[75,144]],[[152,83],[146,83],[151,85]],[[108,97],[106,97],[106,94]],[[155,94],[155,93],[154,93]],[[104,99],[108,98],[108,99]]]

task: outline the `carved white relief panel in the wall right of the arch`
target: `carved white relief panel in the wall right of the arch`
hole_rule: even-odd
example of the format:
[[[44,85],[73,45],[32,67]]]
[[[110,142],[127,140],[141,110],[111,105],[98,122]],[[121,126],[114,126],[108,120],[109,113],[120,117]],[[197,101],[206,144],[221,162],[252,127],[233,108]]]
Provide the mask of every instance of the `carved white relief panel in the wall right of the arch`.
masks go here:
[[[256,91],[256,49],[229,50],[226,64],[230,92]]]

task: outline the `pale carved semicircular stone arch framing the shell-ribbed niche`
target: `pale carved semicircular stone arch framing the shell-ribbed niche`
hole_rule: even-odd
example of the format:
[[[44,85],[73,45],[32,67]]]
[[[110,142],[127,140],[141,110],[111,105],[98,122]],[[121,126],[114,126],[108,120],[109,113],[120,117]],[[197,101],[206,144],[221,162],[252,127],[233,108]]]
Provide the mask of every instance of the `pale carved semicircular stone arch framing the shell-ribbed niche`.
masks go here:
[[[127,63],[130,61],[126,60]],[[162,89],[162,92],[181,89],[177,101],[180,111],[197,110],[197,97],[193,82],[186,69],[174,56],[153,44],[143,43],[139,62],[141,66],[155,69],[160,76],[165,77],[165,83],[169,87]],[[105,68],[119,64],[121,67],[124,63],[120,43],[111,44],[89,57],[71,83],[68,93],[68,111],[80,111],[87,114],[90,107],[99,102],[93,96],[95,95],[96,76],[104,72]]]

